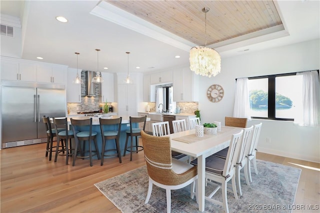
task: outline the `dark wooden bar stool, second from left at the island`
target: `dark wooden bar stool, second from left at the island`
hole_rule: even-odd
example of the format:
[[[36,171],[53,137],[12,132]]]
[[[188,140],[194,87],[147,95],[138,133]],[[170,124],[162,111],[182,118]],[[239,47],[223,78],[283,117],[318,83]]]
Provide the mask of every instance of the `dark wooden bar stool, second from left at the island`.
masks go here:
[[[67,118],[53,118],[53,124],[55,126],[56,131],[59,129],[58,127],[62,127],[63,129],[63,131],[59,131],[58,134],[56,135],[57,144],[56,144],[54,162],[56,162],[58,155],[61,155],[61,156],[65,156],[65,164],[68,165],[68,157],[72,155],[71,139],[74,138],[73,131],[68,130]],[[59,149],[60,140],[61,142],[64,141],[65,149],[64,148]],[[64,154],[64,151],[65,151],[65,154]]]

